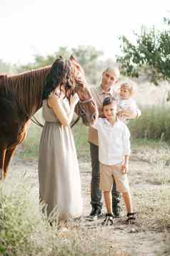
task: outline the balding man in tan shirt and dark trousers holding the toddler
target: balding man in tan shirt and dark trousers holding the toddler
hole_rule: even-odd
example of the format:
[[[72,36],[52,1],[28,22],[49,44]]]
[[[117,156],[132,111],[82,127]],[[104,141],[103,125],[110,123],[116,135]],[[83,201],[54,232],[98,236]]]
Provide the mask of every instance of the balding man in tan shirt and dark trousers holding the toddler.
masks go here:
[[[99,116],[101,116],[101,106],[106,97],[116,98],[115,85],[118,82],[120,76],[119,69],[117,67],[107,68],[102,75],[101,85],[99,87],[91,88],[91,93],[96,100],[96,105],[99,110]],[[101,217],[101,190],[99,189],[99,146],[97,131],[89,127],[89,143],[91,153],[91,219]],[[119,206],[121,201],[121,195],[116,191],[116,183],[114,181],[112,187],[112,210],[114,217],[120,217],[121,208]]]

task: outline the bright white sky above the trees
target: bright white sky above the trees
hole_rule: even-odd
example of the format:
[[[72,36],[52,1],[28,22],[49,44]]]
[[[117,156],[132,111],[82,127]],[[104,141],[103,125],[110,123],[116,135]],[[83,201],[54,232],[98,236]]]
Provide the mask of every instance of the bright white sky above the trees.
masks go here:
[[[0,60],[26,64],[79,45],[114,58],[122,34],[133,40],[141,26],[160,29],[169,11],[169,0],[0,0]]]

